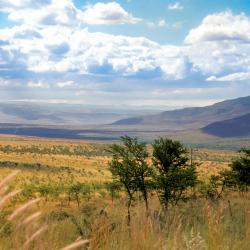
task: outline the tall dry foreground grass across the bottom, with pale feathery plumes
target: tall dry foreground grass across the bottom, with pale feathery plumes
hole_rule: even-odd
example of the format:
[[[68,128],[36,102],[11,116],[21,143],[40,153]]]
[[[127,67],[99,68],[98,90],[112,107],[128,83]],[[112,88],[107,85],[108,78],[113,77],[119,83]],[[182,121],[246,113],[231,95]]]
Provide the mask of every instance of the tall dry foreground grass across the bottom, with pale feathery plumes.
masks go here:
[[[150,209],[134,202],[127,224],[126,200],[106,193],[60,205],[33,198],[18,199],[10,190],[17,173],[0,182],[0,249],[91,250],[248,250],[250,195],[229,192],[211,201],[196,197],[161,208],[151,197]]]

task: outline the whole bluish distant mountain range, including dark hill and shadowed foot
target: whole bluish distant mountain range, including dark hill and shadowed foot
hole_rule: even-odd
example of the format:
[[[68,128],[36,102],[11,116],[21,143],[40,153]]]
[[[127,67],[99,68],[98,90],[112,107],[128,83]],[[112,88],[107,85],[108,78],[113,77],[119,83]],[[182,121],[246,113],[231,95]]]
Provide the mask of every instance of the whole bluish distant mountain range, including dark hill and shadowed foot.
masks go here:
[[[217,137],[250,136],[250,96],[164,112],[71,104],[0,103],[0,134],[73,139],[82,138],[81,134],[88,138],[96,134],[98,138],[105,135],[105,139],[112,139],[123,134],[153,136],[180,130]]]

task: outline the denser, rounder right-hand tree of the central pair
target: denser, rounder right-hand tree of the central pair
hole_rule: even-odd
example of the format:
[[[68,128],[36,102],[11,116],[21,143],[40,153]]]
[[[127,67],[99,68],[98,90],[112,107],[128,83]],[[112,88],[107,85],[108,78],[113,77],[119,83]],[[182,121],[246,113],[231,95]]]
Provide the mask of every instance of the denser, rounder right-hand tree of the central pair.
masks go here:
[[[187,150],[179,141],[160,138],[152,146],[155,185],[160,202],[167,209],[169,203],[185,199],[185,191],[195,186],[196,164],[190,163]]]

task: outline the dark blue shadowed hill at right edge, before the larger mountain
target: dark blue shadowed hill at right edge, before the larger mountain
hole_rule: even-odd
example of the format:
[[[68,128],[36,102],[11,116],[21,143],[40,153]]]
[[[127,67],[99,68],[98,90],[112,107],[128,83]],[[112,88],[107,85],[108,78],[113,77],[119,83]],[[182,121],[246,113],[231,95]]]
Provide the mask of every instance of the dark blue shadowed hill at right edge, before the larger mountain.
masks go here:
[[[202,131],[218,137],[249,136],[250,113],[237,118],[211,123],[202,128]]]

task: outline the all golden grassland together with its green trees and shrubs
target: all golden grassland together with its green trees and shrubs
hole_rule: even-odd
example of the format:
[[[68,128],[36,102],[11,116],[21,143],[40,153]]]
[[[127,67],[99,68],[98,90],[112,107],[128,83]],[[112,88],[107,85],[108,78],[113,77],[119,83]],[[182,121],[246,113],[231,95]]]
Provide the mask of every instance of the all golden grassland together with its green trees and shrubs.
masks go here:
[[[248,249],[248,149],[197,149],[191,161],[167,138],[1,142],[8,145],[0,152],[1,249]],[[90,153],[28,152],[33,146]]]

